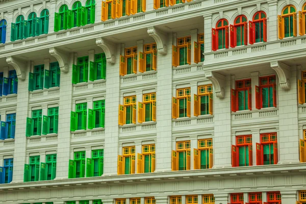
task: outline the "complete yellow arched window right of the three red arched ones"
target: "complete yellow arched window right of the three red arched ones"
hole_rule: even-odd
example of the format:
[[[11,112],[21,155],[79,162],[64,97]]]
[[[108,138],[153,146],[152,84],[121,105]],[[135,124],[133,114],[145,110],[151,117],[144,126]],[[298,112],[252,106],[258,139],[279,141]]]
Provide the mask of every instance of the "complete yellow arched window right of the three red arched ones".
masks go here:
[[[282,15],[278,15],[278,38],[296,36],[296,10],[294,6],[286,6]]]

